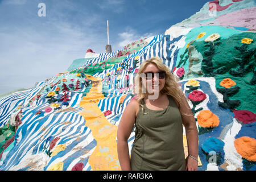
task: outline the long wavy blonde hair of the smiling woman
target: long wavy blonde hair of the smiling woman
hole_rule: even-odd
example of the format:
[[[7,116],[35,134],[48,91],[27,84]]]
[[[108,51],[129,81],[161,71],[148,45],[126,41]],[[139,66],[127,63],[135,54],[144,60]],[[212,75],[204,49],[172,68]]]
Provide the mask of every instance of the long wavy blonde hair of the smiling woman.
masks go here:
[[[136,99],[139,102],[139,104],[142,106],[143,114],[146,114],[146,113],[144,113],[143,111],[144,107],[141,103],[141,100],[146,97],[146,93],[142,93],[142,89],[144,88],[142,84],[142,77],[140,75],[144,72],[148,64],[155,64],[156,67],[160,69],[160,71],[166,72],[166,82],[164,84],[163,89],[160,90],[160,93],[172,96],[172,98],[174,98],[174,100],[178,103],[178,107],[180,109],[180,105],[184,103],[184,100],[187,102],[186,100],[187,98],[185,97],[182,90],[179,88],[179,85],[177,84],[177,81],[179,81],[179,79],[176,76],[172,75],[172,73],[170,72],[170,69],[167,67],[167,65],[163,64],[162,60],[159,57],[151,57],[151,59],[148,59],[142,62],[141,66],[139,67],[138,73],[134,78],[134,82],[139,83],[139,85],[135,85],[135,86],[139,86],[139,93],[135,93],[135,94],[137,94],[138,96]],[[180,110],[180,113],[181,115],[191,115],[191,114],[186,114],[181,110]]]

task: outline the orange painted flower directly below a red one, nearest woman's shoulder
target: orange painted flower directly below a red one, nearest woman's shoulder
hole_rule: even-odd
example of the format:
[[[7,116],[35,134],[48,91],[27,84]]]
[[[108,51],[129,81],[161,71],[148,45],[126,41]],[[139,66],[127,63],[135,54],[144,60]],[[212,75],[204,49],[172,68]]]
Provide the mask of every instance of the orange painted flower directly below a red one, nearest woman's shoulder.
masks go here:
[[[201,127],[217,127],[220,123],[217,115],[210,110],[202,110],[197,115],[197,122]]]

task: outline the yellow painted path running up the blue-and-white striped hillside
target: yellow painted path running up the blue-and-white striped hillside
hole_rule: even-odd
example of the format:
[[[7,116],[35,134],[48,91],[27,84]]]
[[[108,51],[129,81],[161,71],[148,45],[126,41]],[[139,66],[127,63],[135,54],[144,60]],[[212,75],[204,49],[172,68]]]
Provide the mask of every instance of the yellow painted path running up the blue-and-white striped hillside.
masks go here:
[[[101,78],[86,75],[92,80],[92,88],[80,102],[84,110],[79,113],[85,119],[85,126],[92,130],[93,138],[97,146],[89,157],[89,164],[94,171],[121,170],[117,155],[117,129],[118,127],[109,123],[104,113],[98,107],[98,101],[104,98],[101,93]]]

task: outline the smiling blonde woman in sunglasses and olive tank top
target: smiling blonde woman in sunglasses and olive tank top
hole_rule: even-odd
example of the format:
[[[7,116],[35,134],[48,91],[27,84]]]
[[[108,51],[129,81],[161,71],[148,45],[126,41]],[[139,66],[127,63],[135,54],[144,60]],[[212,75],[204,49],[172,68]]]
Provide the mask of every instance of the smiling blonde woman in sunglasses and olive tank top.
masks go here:
[[[126,106],[117,131],[121,169],[197,170],[195,118],[168,67],[158,57],[144,61],[135,76],[135,88],[139,89],[138,97]],[[127,139],[134,124],[135,139],[130,159]],[[188,142],[186,159],[182,124]]]

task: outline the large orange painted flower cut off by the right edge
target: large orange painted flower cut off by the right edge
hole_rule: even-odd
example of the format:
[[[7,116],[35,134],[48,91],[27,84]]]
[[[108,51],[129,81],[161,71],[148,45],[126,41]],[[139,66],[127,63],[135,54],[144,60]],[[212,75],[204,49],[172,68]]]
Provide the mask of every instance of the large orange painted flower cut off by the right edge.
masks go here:
[[[234,146],[238,154],[243,158],[256,161],[256,139],[250,137],[240,137],[234,140]]]

